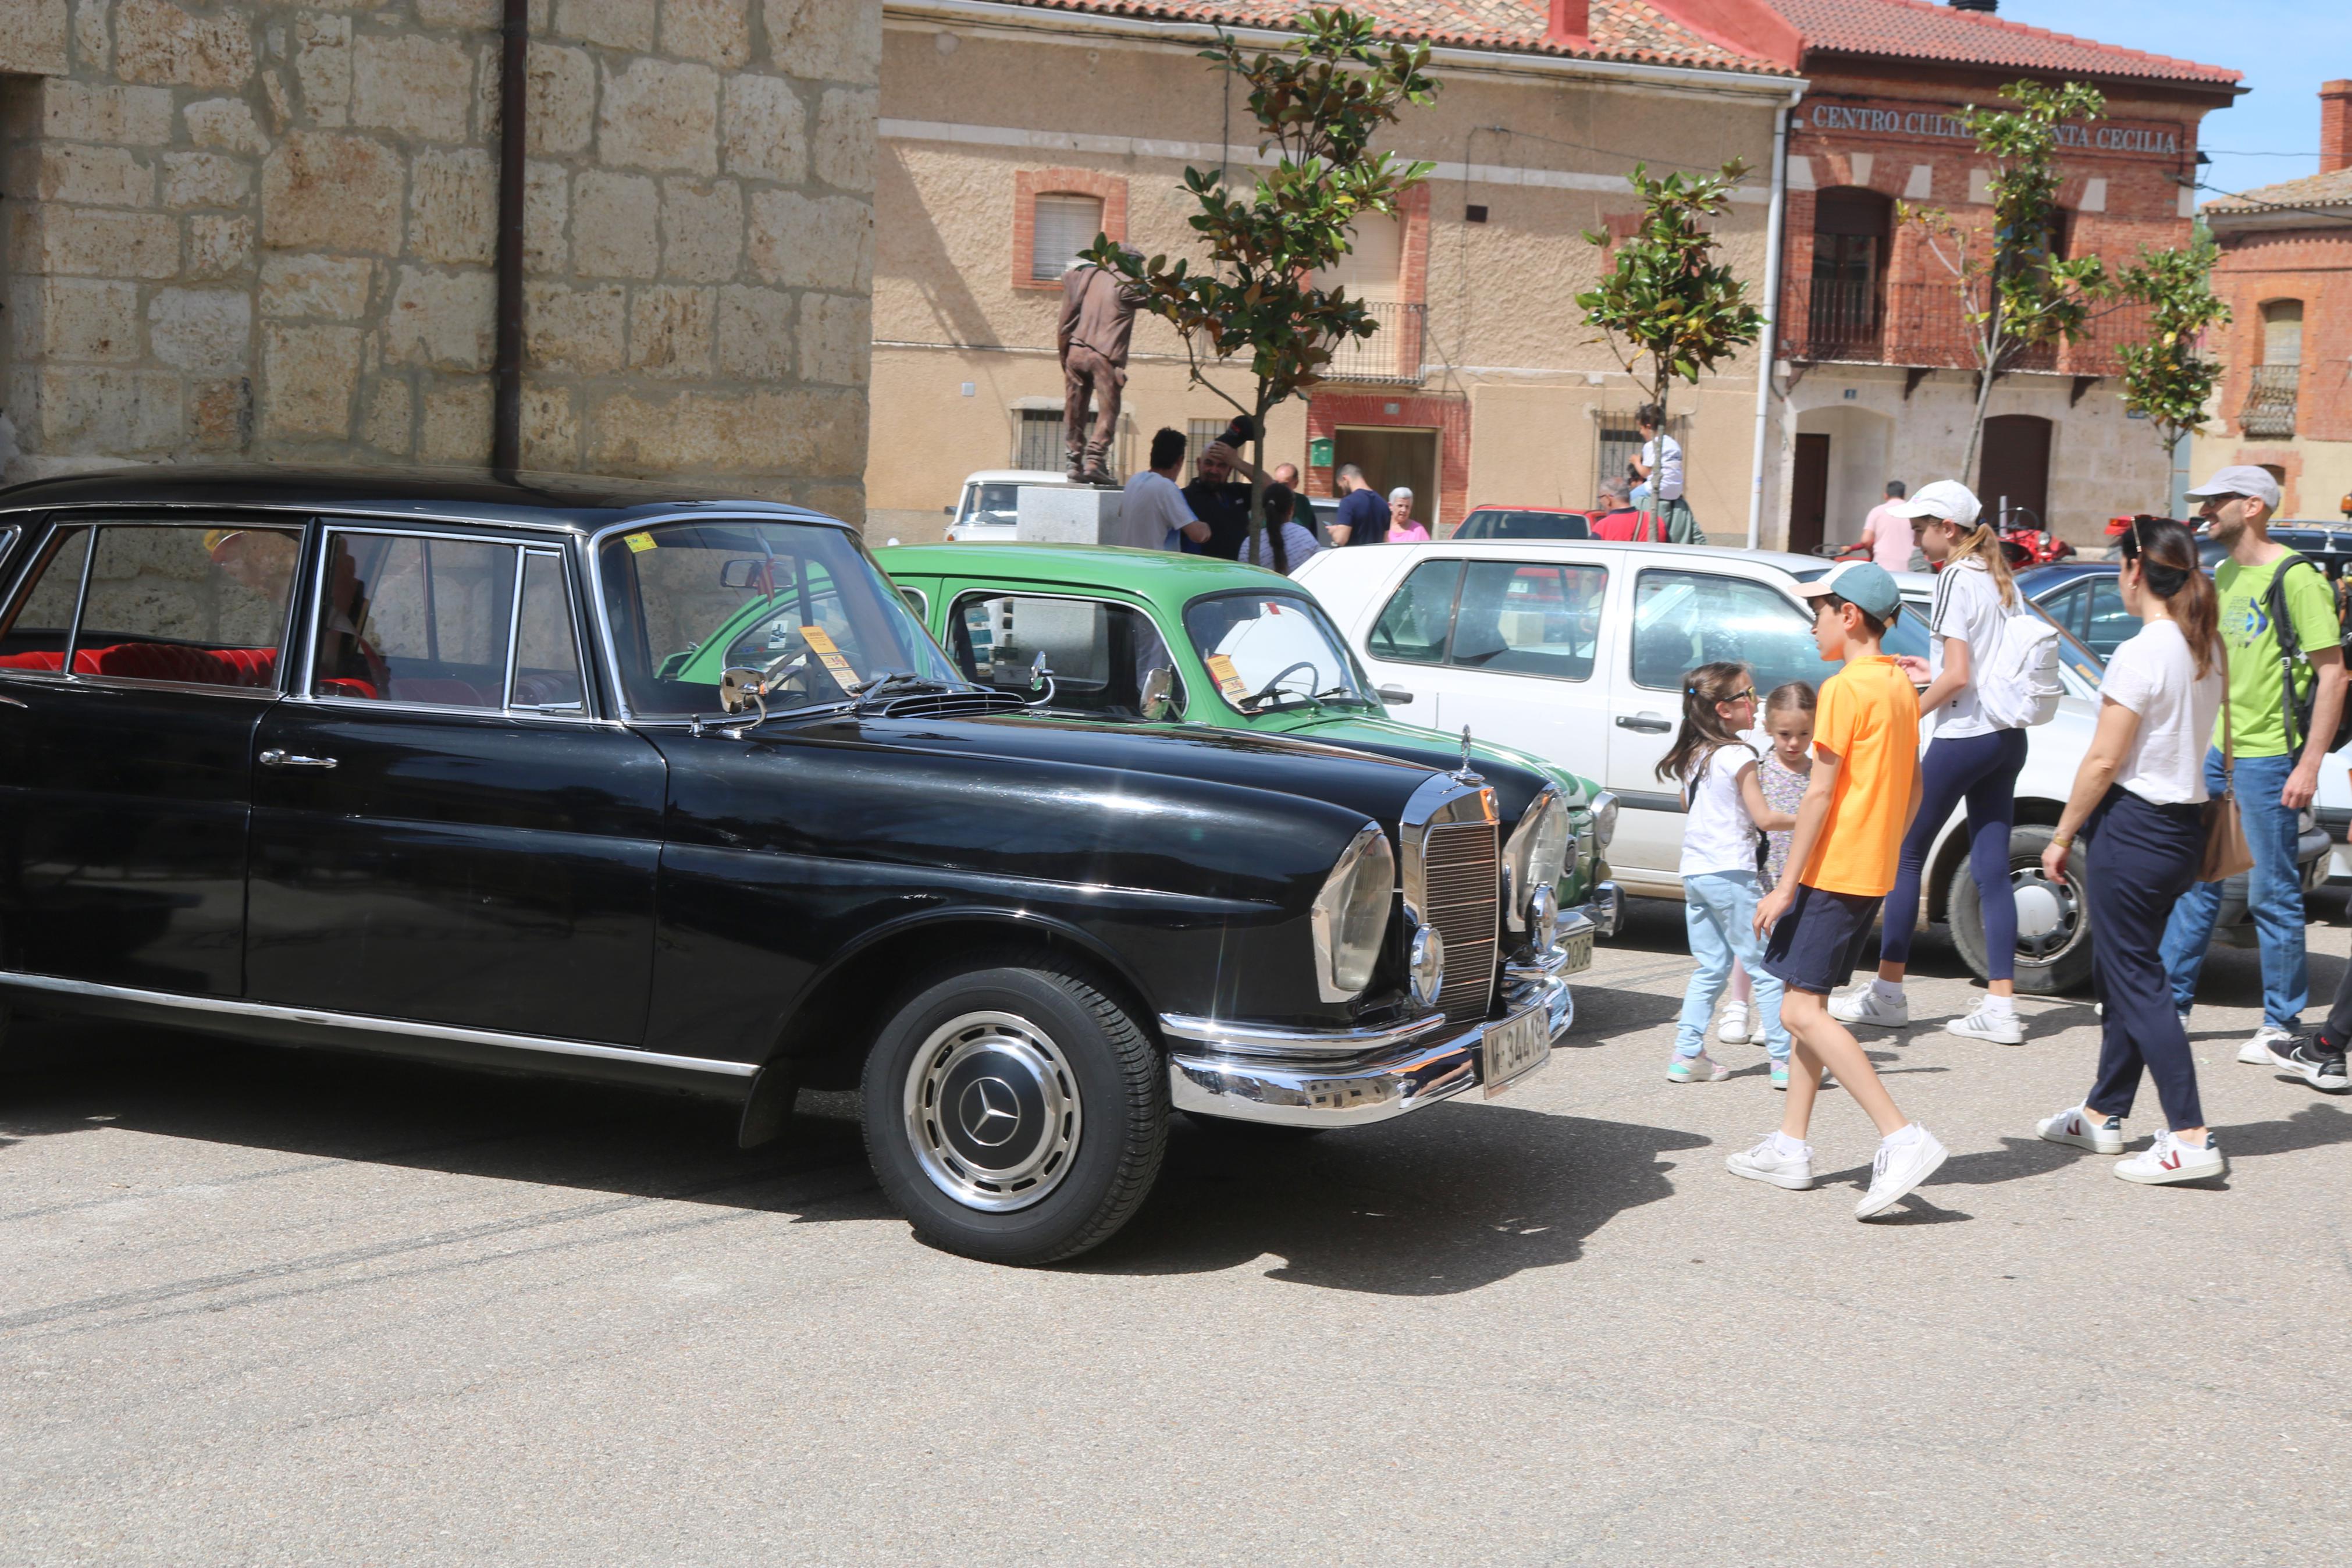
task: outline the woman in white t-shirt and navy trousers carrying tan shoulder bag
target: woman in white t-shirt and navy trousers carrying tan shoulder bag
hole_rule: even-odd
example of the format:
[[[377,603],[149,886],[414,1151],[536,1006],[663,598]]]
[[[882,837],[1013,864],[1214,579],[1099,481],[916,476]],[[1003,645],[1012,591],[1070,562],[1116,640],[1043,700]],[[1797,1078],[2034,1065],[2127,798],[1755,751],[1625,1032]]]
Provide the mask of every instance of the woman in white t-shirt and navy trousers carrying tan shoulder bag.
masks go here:
[[[2122,1154],[2124,1117],[2145,1067],[2166,1128],[2114,1173],[2133,1182],[2194,1182],[2223,1175],[2230,1164],[2206,1131],[2197,1063],[2157,950],[2173,903],[2204,860],[2204,757],[2230,665],[2194,536],[2178,522],[2136,522],[2122,552],[2124,609],[2143,625],[2107,658],[2098,731],[2058,835],[2042,853],[2051,879],[2065,882],[2077,830],[2086,839],[2084,882],[2098,931],[2091,985],[2105,1004],[2098,1084],[2037,1131],[2051,1143]]]

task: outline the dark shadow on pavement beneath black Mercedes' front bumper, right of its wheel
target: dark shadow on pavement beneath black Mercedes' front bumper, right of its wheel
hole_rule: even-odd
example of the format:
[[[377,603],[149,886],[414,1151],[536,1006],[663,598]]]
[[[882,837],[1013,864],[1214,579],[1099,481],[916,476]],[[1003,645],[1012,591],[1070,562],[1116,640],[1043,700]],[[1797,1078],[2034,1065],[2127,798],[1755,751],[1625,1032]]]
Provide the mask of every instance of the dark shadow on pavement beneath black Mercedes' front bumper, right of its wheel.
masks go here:
[[[1150,1204],[1068,1267],[1202,1274],[1272,1253],[1284,1262],[1268,1279],[1458,1295],[1573,1262],[1618,1213],[1672,1197],[1665,1154],[1708,1143],[1505,1105],[1437,1105],[1322,1138],[1178,1119]]]

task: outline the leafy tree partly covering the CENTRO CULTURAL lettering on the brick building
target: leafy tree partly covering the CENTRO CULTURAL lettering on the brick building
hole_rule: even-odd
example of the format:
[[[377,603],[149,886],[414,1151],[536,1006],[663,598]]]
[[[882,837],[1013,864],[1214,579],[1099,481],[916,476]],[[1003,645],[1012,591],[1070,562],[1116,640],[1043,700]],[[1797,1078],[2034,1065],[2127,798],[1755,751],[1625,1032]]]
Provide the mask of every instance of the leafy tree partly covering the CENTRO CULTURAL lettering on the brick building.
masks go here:
[[[1971,103],[1959,110],[1962,125],[1976,136],[1976,150],[1997,165],[1992,223],[1962,223],[1940,207],[1910,202],[1896,209],[1900,223],[1919,226],[1929,254],[1952,275],[1971,327],[1976,421],[1969,425],[1962,475],[1976,473],[1992,383],[2034,348],[2060,339],[2072,343],[2089,324],[2091,308],[2112,294],[2098,256],[2067,261],[2051,244],[2058,183],[2065,179],[2058,169],[2058,127],[2067,120],[2098,120],[2107,113],[2107,99],[2084,82],[2011,82],[2002,96],[2016,108]]]

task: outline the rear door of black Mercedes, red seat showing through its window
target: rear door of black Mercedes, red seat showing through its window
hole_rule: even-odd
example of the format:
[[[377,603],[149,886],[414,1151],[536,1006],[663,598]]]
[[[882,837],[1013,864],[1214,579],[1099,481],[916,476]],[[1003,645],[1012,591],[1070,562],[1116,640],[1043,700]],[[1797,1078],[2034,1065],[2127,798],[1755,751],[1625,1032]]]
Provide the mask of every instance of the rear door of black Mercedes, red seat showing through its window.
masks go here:
[[[0,966],[240,994],[252,738],[301,548],[235,512],[38,541],[0,630]]]

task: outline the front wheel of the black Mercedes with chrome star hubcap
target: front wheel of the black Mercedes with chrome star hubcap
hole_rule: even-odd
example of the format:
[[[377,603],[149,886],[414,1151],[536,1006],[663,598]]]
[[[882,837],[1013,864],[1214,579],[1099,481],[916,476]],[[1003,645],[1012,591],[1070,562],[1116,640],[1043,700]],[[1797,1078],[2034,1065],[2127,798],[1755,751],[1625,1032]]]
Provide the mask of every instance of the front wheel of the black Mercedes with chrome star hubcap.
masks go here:
[[[863,1103],[882,1192],[922,1241],[981,1262],[1056,1262],[1108,1241],[1150,1194],[1169,1131],[1150,1034],[1044,954],[908,987],[866,1058]],[[983,1166],[983,1150],[1016,1164]]]

